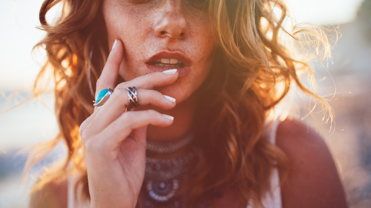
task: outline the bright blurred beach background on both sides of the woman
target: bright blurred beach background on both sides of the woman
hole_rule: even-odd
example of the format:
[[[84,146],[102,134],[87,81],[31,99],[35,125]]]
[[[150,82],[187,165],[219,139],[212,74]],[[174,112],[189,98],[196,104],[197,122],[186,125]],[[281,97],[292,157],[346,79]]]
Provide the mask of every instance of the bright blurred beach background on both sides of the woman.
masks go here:
[[[321,113],[313,113],[304,122],[325,138],[350,207],[371,207],[371,0],[286,1],[291,16],[298,22],[310,21],[328,28],[339,26],[341,38],[333,43],[332,62],[313,62],[320,93],[337,93],[328,96],[332,98],[337,126],[330,131],[330,125],[321,121]],[[42,0],[0,2],[0,208],[27,207],[27,191],[37,175],[65,155],[60,145],[32,168],[27,182],[22,184],[27,153],[17,152],[50,140],[58,132],[53,94],[44,94],[40,97],[42,102],[27,100],[32,96],[33,81],[45,57],[45,51],[31,52],[45,36],[35,28],[39,26],[41,4]],[[57,11],[52,9],[49,18]],[[336,39],[334,31],[328,35]],[[293,99],[290,115],[296,118],[306,115],[308,108],[302,100]],[[19,104],[22,105],[9,111]]]

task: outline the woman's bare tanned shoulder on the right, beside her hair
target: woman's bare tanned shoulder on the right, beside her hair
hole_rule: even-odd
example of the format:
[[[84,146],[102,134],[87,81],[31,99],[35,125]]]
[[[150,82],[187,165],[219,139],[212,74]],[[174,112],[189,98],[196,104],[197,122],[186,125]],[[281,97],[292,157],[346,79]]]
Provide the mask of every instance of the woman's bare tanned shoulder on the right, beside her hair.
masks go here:
[[[290,162],[281,187],[285,208],[347,207],[335,162],[319,134],[300,121],[286,119],[278,127],[276,145]]]

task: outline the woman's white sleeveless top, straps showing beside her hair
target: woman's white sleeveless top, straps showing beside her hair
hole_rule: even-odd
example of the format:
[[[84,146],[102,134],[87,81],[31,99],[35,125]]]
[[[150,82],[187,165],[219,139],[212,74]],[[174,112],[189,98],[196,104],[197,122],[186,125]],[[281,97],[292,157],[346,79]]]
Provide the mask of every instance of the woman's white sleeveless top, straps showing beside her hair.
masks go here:
[[[266,125],[264,134],[266,138],[269,139],[272,144],[276,144],[276,133],[278,129],[278,125],[280,123],[279,118],[275,121],[270,122]],[[75,183],[76,177],[71,177],[68,180],[68,204],[67,208],[89,208],[90,202],[89,201],[81,201],[79,197],[77,197],[77,201],[75,203],[75,197],[81,196],[81,188],[77,188],[77,195],[75,195]],[[279,184],[279,172],[278,169],[275,168],[272,170],[272,174],[270,176],[270,191],[266,193],[265,197],[262,199],[262,204],[265,208],[282,208],[282,199],[281,199],[281,188]],[[251,204],[247,205],[247,208],[253,208]]]

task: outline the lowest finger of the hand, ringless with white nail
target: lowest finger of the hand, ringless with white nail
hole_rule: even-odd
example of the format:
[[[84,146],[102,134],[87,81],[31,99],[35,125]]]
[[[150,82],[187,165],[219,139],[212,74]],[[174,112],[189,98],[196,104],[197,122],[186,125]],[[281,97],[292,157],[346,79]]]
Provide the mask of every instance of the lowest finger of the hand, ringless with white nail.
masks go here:
[[[134,129],[147,125],[167,127],[173,123],[172,119],[174,118],[169,115],[158,113],[155,110],[128,111],[121,114],[103,131],[96,134],[96,136],[92,138],[92,141],[88,142],[90,145],[93,145],[93,147],[89,148],[92,148],[92,151],[114,150],[115,148],[119,148],[121,142],[124,141]],[[145,139],[145,137],[143,138]],[[143,141],[139,142],[142,143]],[[145,143],[143,142],[143,144]],[[97,148],[99,150],[97,150]]]

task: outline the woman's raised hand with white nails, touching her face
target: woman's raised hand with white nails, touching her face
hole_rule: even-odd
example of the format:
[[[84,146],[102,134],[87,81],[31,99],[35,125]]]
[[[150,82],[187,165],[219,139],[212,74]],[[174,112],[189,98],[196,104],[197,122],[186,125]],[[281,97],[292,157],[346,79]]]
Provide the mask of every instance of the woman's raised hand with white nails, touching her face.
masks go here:
[[[125,112],[129,106],[126,88],[137,88],[139,106],[154,105],[168,110],[175,107],[175,101],[152,89],[173,83],[178,72],[150,73],[114,88],[123,54],[124,46],[117,40],[96,88],[96,94],[106,88],[114,89],[114,93],[100,110],[95,108],[79,131],[92,208],[135,207],[144,180],[147,125],[167,127],[173,123],[154,110]]]

